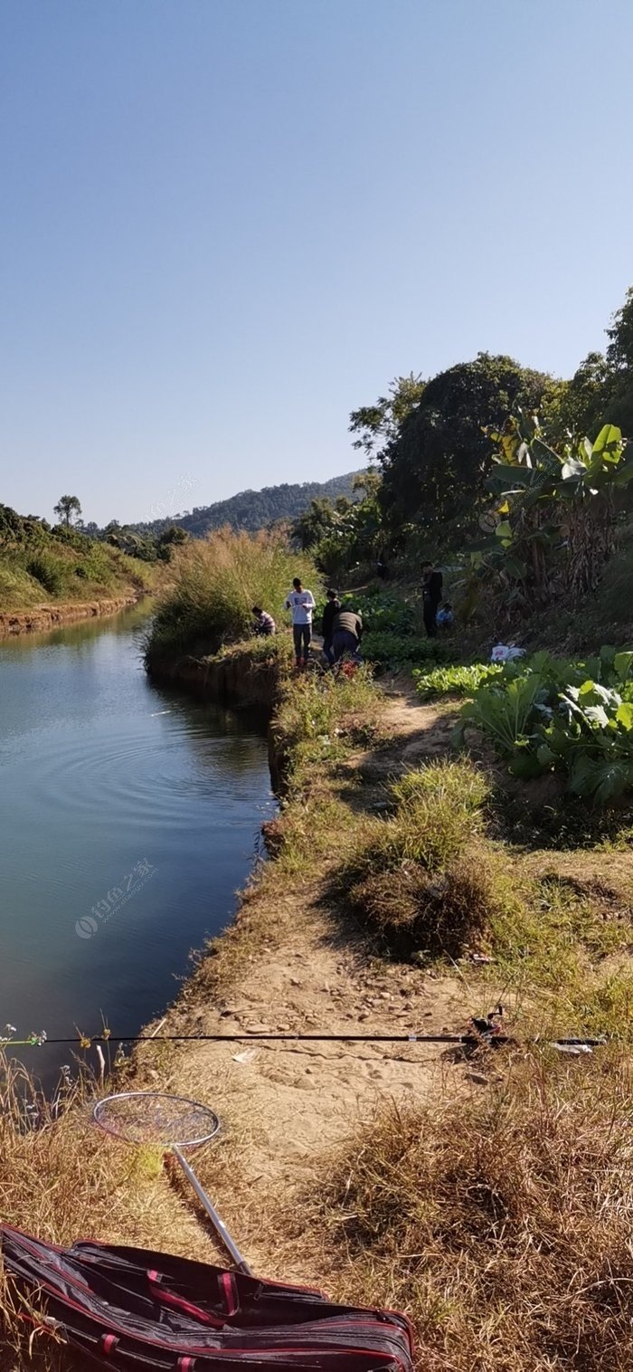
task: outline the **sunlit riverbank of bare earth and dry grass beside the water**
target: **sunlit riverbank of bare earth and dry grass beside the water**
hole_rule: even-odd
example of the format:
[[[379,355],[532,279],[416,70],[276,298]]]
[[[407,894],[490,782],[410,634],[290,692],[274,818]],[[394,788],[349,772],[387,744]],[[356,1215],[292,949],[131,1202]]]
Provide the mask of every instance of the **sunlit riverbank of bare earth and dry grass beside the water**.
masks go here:
[[[252,685],[249,654],[264,650],[236,649],[233,671],[249,660],[240,672]],[[633,1220],[629,852],[615,836],[558,849],[518,829],[510,841],[504,807],[475,794],[485,763],[473,777],[451,757],[455,713],[449,700],[421,704],[407,679],[380,691],[364,674],[334,682],[280,665],[271,860],[148,1029],[227,1041],[140,1045],[126,1084],[218,1109],[223,1135],[196,1170],[258,1272],[406,1309],[433,1372],[540,1372],[545,1360],[577,1372],[578,1347],[584,1372],[615,1372],[633,1351],[621,1295]],[[381,903],[366,889],[367,853]],[[411,890],[426,923],[411,926]],[[455,892],[485,906],[443,955],[426,936]],[[390,945],[397,919],[418,938],[407,956]],[[467,1059],[421,1041],[462,1032],[500,999],[514,1045]],[[570,1059],[529,1041],[586,1024],[619,1045]],[[241,1037],[252,1033],[264,1037]],[[10,1222],[218,1261],[162,1158],[104,1148],[85,1106],[69,1102],[37,1135],[7,1131],[0,1113]]]

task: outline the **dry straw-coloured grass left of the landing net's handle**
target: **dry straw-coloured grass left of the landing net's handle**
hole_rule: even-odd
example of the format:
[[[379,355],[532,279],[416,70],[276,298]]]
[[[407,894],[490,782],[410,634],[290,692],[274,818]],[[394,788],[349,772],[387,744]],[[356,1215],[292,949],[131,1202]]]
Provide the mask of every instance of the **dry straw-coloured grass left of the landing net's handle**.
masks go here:
[[[114,1084],[110,1089],[119,1089]],[[101,1093],[86,1073],[52,1100],[0,1055],[0,1196],[5,1224],[60,1244],[95,1238],[190,1257],[204,1246],[190,1196],[174,1188],[163,1150],[132,1148],[92,1122]],[[212,1246],[207,1257],[212,1261]],[[0,1272],[0,1369],[69,1369],[56,1346],[19,1320],[23,1302]]]

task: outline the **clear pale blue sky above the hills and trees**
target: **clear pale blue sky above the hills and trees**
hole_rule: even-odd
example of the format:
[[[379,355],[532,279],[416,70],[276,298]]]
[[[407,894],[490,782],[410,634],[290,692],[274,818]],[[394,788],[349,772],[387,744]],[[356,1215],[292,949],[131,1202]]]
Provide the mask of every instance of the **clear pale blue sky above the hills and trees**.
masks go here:
[[[175,513],[358,465],[633,283],[632,0],[0,0],[0,501]]]

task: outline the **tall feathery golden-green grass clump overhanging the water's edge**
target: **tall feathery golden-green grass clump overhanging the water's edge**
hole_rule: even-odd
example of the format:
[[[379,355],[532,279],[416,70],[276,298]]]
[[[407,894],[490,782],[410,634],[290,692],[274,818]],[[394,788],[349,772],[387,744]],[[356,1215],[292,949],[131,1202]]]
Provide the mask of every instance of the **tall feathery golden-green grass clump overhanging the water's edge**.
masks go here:
[[[277,532],[215,530],[178,549],[171,567],[174,575],[149,632],[148,660],[163,653],[216,652],[248,634],[252,605],[280,620],[293,576],[301,576],[312,590],[318,586],[311,558],[295,553]]]

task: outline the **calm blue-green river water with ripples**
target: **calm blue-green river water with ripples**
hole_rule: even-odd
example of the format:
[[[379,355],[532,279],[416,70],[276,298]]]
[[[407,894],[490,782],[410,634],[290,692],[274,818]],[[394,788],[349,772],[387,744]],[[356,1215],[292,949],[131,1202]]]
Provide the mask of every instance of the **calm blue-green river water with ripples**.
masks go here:
[[[137,606],[0,641],[0,1033],[97,1033],[101,1014],[136,1033],[259,851],[262,727],[152,686],[145,624]],[[19,1050],[44,1081],[71,1052]]]

